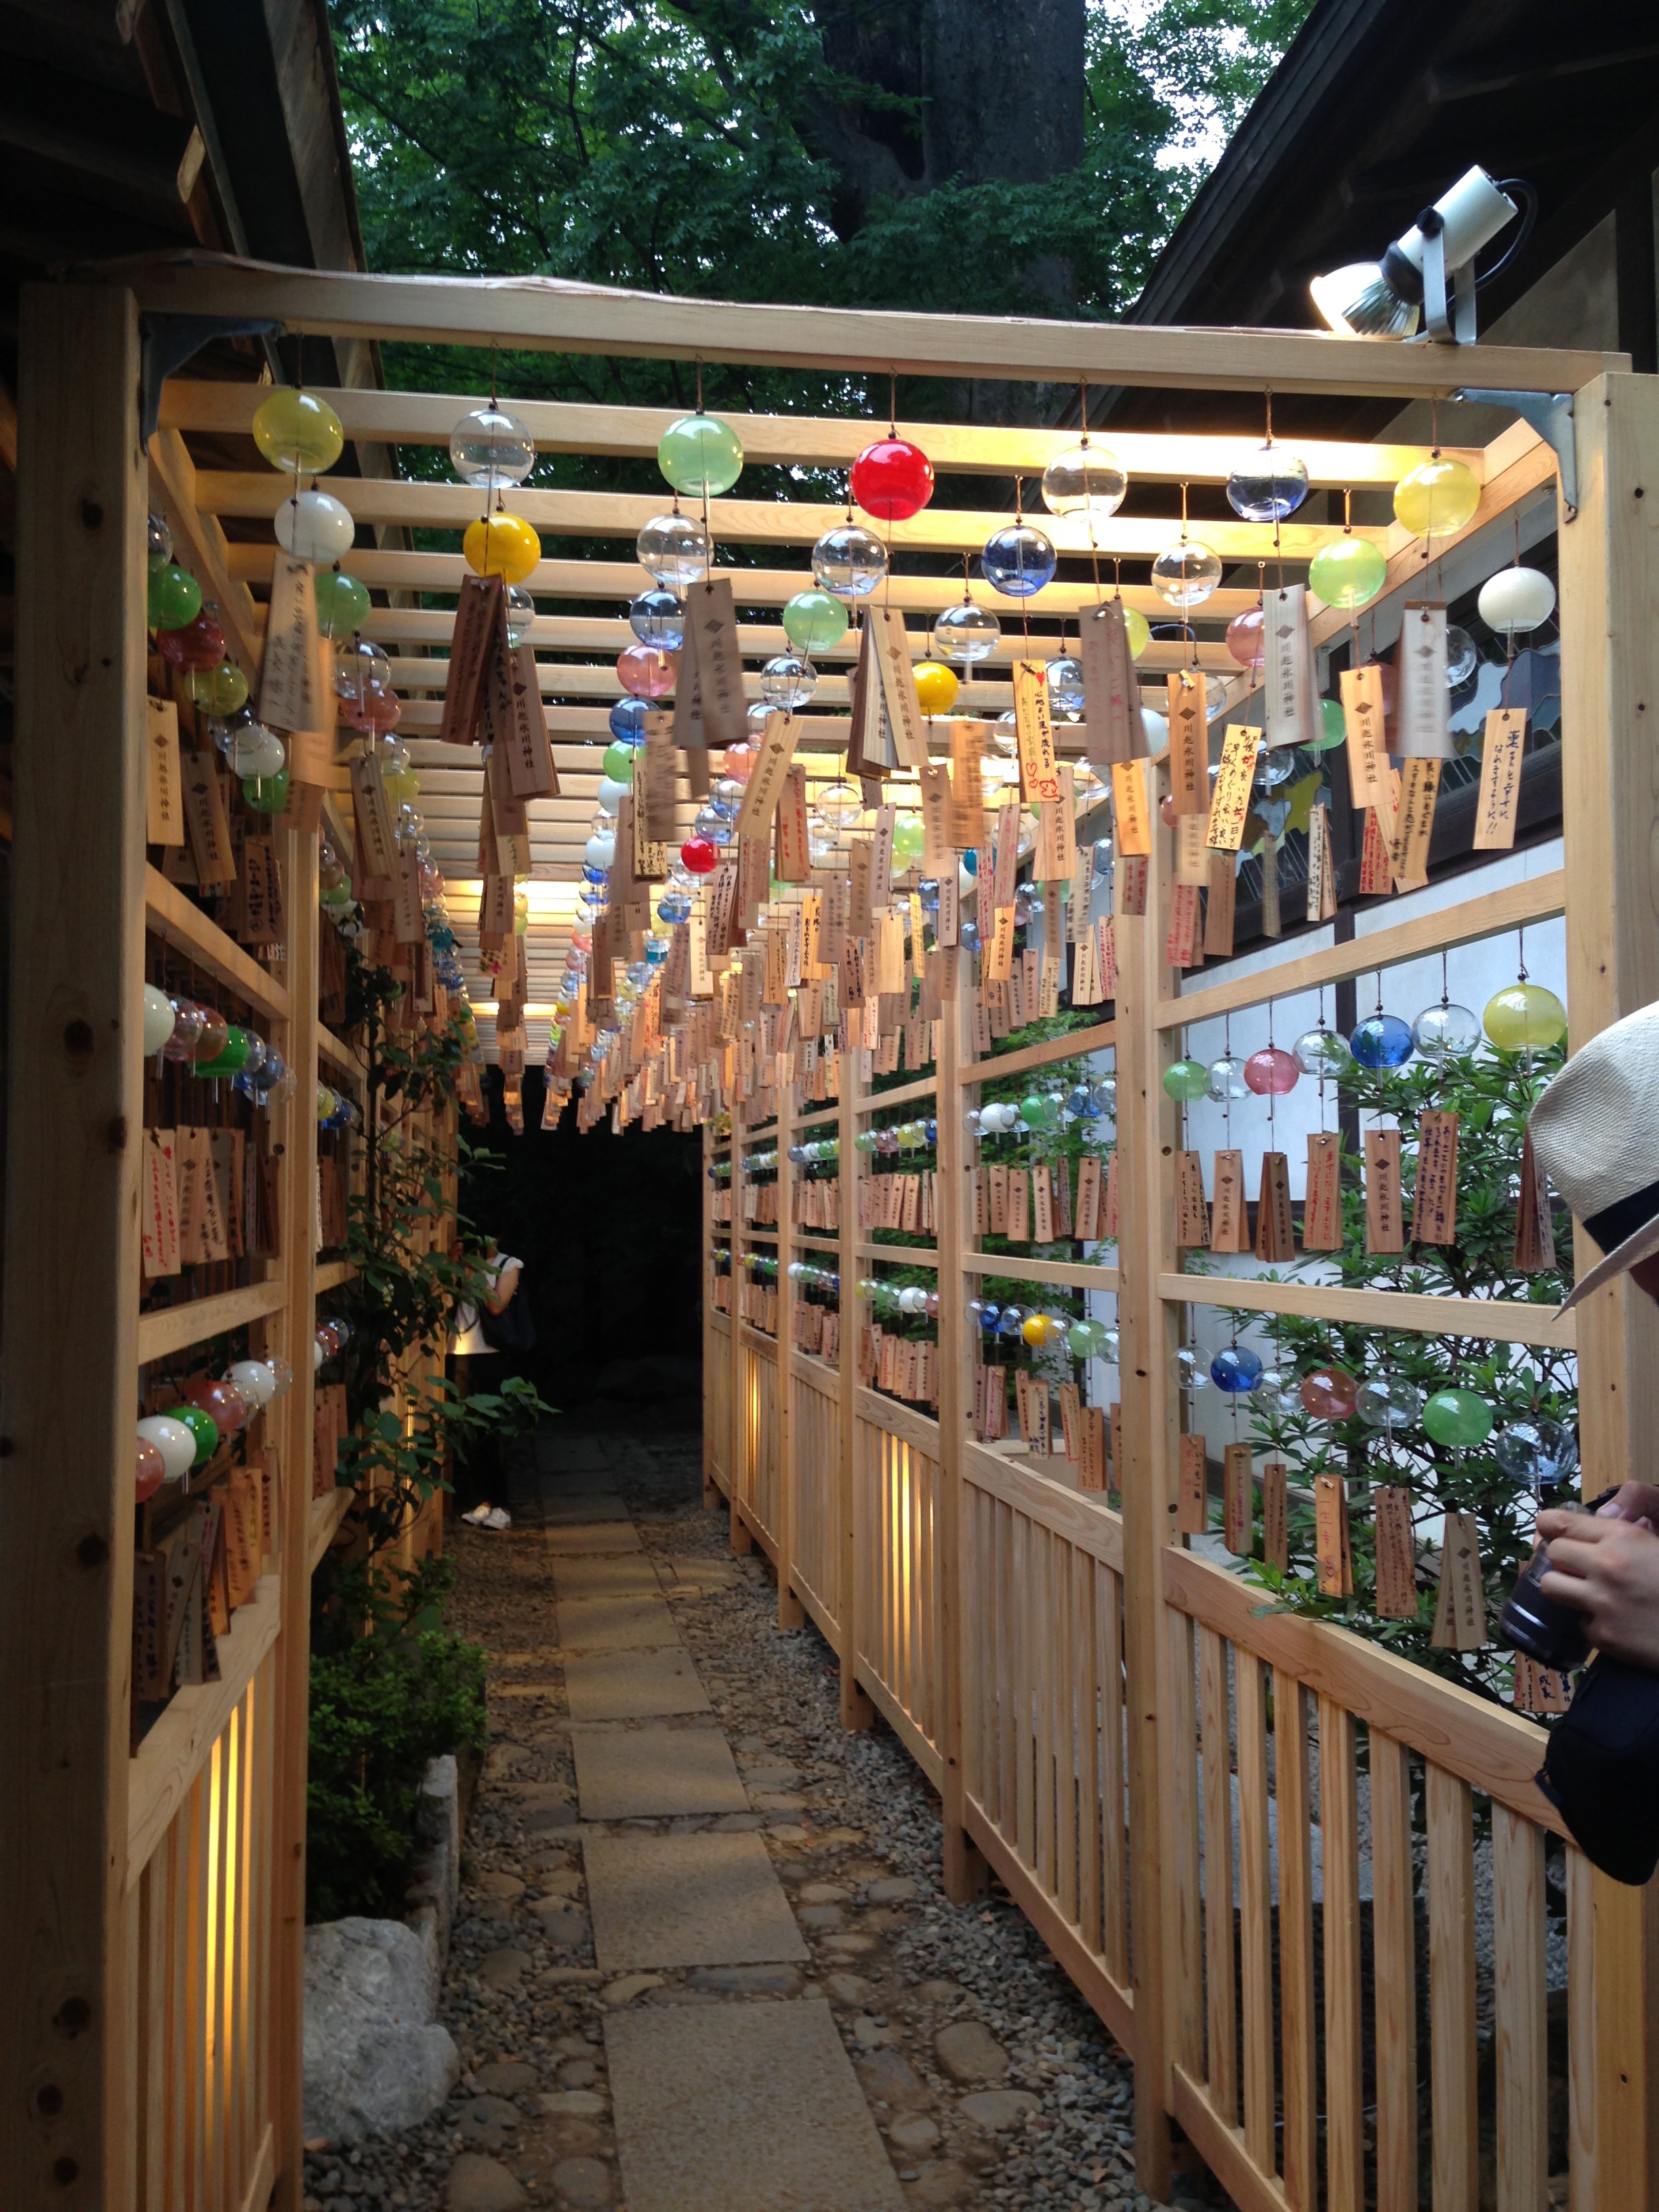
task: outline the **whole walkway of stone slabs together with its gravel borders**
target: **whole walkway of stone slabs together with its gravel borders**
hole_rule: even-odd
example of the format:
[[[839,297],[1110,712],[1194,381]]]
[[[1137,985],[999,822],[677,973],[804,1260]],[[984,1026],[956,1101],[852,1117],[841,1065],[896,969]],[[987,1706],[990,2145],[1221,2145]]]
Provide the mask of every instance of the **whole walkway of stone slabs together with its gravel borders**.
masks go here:
[[[832,1655],[701,1511],[695,1438],[555,1422],[511,1535],[453,1553],[491,1652],[462,2081],[312,2157],[307,2203],[1150,2212],[1121,2053],[1011,1907],[942,1900],[938,1803],[841,1730]]]

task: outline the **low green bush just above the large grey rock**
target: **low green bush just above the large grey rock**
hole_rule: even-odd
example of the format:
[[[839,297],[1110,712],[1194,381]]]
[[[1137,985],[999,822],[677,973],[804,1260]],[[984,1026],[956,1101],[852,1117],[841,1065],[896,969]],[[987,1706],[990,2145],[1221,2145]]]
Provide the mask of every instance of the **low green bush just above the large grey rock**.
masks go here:
[[[420,1776],[484,1732],[484,1652],[449,1630],[376,1630],[312,1657],[307,1920],[403,1913]]]

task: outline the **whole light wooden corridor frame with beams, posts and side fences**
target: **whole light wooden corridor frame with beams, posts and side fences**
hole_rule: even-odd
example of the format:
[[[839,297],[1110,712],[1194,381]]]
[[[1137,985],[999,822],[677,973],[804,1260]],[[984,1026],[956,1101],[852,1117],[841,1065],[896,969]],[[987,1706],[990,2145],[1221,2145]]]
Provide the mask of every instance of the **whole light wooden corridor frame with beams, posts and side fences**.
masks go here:
[[[1495,2143],[1498,2212],[1548,2199],[1551,2017],[1544,1838],[1559,1834],[1533,1783],[1542,1739],[1520,1719],[1389,1657],[1340,1628],[1263,1613],[1259,1593],[1190,1551],[1177,1531],[1181,1398],[1172,1378],[1181,1307],[1270,1298],[1378,1329],[1486,1323],[1495,1340],[1573,1343],[1582,1376],[1586,1489],[1644,1462],[1659,1429],[1659,1316],[1608,1285],[1577,1332],[1551,1310],[1301,1283],[1225,1285],[1183,1267],[1175,1241],[1175,1106],[1164,1068],[1183,1024],[1294,989],[1387,969],[1544,916],[1566,916],[1571,1035],[1579,1044],[1659,998],[1659,783],[1648,723],[1659,701],[1659,380],[1599,354],[1345,341],[1296,332],[1113,327],[644,299],[584,285],[493,279],[312,274],[179,254],[35,288],[24,303],[20,394],[20,599],[13,843],[11,1066],[0,1398],[0,2203],[75,2212],[296,2212],[301,2170],[301,1960],[305,1849],[305,1683],[310,1568],[332,1533],[294,1493],[279,1515],[257,1621],[212,1692],[184,1692],[131,1754],[133,1509],[128,1493],[137,1318],[139,984],[146,916],[190,933],[195,956],[270,1015],[299,1075],[285,1113],[279,1265],[234,1312],[177,1310],[168,1347],[232,1323],[288,1352],[281,1455],[310,1464],[310,1332],[319,1057],[316,836],[285,834],[288,938],[281,967],[246,960],[144,865],[144,515],[166,511],[181,557],[217,597],[232,653],[259,664],[272,555],[263,535],[281,482],[199,465],[192,436],[246,429],[257,387],[175,378],[161,427],[139,438],[139,316],[223,316],[288,332],[372,341],[681,361],[801,365],[838,374],[1011,378],[1334,392],[1405,405],[1460,385],[1571,392],[1577,513],[1559,522],[1564,668],[1564,869],[1471,896],[1354,945],[1298,951],[1248,971],[1212,969],[1181,991],[1166,967],[1172,843],[1155,834],[1144,916],[1117,918],[1110,1020],[1015,1055],[975,1060],[962,1004],[947,1004],[929,1075],[874,1091],[867,1055],[843,1053],[834,1106],[779,1093],[761,1121],[734,1102],[708,1161],[776,1148],[779,1219],[717,1228],[706,1210],[706,1464],[739,1546],[776,1564],[779,1615],[810,1615],[841,1657],[843,1714],[891,1723],[942,1801],[947,1887],[980,1893],[987,1869],[1135,2062],[1141,2185],[1166,2197],[1179,2124],[1245,2212],[1411,2212],[1427,2137],[1433,2212],[1482,2205],[1482,2130]],[[440,442],[469,400],[334,394],[347,436]],[[546,449],[650,453],[648,409],[515,405]],[[885,418],[883,418],[885,425]],[[754,460],[825,465],[865,422],[741,422]],[[1040,469],[1046,431],[916,427],[940,471]],[[1071,440],[1066,440],[1071,442]],[[1097,551],[1146,560],[1175,535],[1175,491],[1221,482],[1245,440],[1113,440],[1130,476],[1166,487],[1168,518],[1117,518]],[[1314,482],[1391,484],[1422,449],[1298,440]],[[1482,480],[1460,540],[1509,529],[1546,495],[1555,453],[1506,431],[1464,456]],[[436,482],[352,482],[378,549],[352,557],[376,593],[411,699],[405,734],[422,772],[434,852],[458,920],[473,869],[482,770],[440,748],[436,692],[460,557],[407,551],[405,529],[458,529],[471,493]],[[542,531],[630,540],[650,502],[526,489],[513,502]],[[666,504],[666,502],[664,502]],[[717,544],[768,546],[743,568],[739,604],[779,606],[805,582],[803,549],[838,518],[821,504],[714,502]],[[1004,515],[925,513],[896,544],[956,555]],[[230,522],[234,535],[223,529]],[[1283,533],[1305,564],[1338,524]],[[1203,526],[1223,560],[1265,557],[1263,524]],[[1387,595],[1411,591],[1420,546],[1378,531]],[[1075,533],[1055,531],[1064,551]],[[1449,549],[1447,549],[1449,551]],[[796,566],[785,562],[796,560]],[[617,560],[549,560],[531,588],[615,608],[641,584]],[[1042,613],[1093,604],[1055,586]],[[896,577],[894,604],[938,611],[951,577]],[[1135,588],[1128,588],[1135,597]],[[1144,595],[1148,608],[1150,595]],[[1206,622],[1254,593],[1223,591]],[[1340,617],[1321,617],[1336,626]],[[542,615],[542,661],[562,779],[531,803],[531,1000],[546,1000],[568,945],[582,827],[604,730],[613,613]],[[768,622],[743,650],[770,653]],[[1217,639],[1199,653],[1221,675]],[[595,664],[568,659],[593,653]],[[1148,666],[1157,666],[1150,661]],[[431,675],[429,675],[431,672]],[[422,679],[427,679],[422,684]],[[431,690],[431,701],[418,692]],[[832,686],[825,701],[836,701]],[[1000,706],[1000,670],[971,686],[973,712]],[[827,774],[847,723],[812,717],[801,759]],[[942,732],[940,732],[942,737]],[[1077,732],[1082,737],[1082,732]],[[814,761],[825,763],[814,770]],[[345,792],[345,757],[334,790]],[[347,821],[330,836],[349,845]],[[533,880],[535,891],[535,880]],[[230,956],[237,956],[232,962]],[[487,1020],[480,1024],[489,1035]],[[973,1234],[973,1139],[964,1115],[991,1077],[1077,1053],[1113,1055],[1119,1234],[1113,1265],[987,1254]],[[867,1172],[854,1139],[898,1106],[938,1121],[936,1248],[874,1243],[854,1203]],[[803,1230],[787,1150],[838,1135],[841,1230]],[[712,1190],[712,1186],[710,1186]],[[714,1312],[717,1243],[732,1281],[757,1245],[779,1259],[776,1334]],[[792,1343],[790,1259],[830,1256],[841,1274],[841,1349],[827,1363]],[[938,1418],[860,1385],[852,1287],[902,1256],[936,1270]],[[1099,1254],[1097,1254],[1099,1256]],[[1029,1453],[969,1433],[975,1338],[969,1303],[987,1274],[1117,1298],[1121,1334],[1121,1506],[1084,1495]],[[737,1301],[732,1301],[737,1305]],[[1451,1307],[1458,1312],[1451,1312]],[[146,1323],[148,1325],[148,1323]],[[179,1334],[179,1332],[186,1334]],[[195,1334],[192,1334],[195,1332]],[[155,1349],[155,1347],[150,1347]],[[305,1356],[301,1356],[305,1354]],[[1064,1464],[1064,1462],[1062,1462]],[[330,1506],[330,1511],[336,1511]],[[239,1624],[243,1615],[239,1615]],[[237,1628],[237,1637],[243,1628]],[[232,1694],[234,1692],[234,1694]],[[1316,1752],[1316,1759],[1314,1759]],[[1369,1840],[1360,1838],[1360,1759]],[[1422,1858],[1413,1798],[1422,1796]],[[1475,1829],[1491,1818],[1491,2066],[1480,2055]],[[1237,1856],[1234,1856],[1237,1834]],[[1316,1874],[1321,1902],[1316,1905]],[[1597,1876],[1568,1847],[1571,2203],[1646,2212],[1659,2194],[1659,1911],[1650,1891]],[[1367,1887],[1369,1874],[1369,1887]],[[1418,1942],[1418,1882],[1427,1953]],[[1427,1975],[1427,1986],[1425,1986]],[[1418,2000],[1429,2048],[1418,2051]],[[1418,2084],[1427,2084],[1420,2101]],[[274,2192],[274,2199],[272,2199]],[[1427,2199],[1425,2199],[1427,2201]]]

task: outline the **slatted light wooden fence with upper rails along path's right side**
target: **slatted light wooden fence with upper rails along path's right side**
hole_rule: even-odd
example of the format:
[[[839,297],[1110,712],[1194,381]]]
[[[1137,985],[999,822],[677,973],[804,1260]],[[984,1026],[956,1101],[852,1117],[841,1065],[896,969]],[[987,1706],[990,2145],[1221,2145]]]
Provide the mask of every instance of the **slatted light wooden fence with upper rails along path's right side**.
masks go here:
[[[1595,436],[1626,473],[1639,456],[1659,460],[1659,405],[1608,392]],[[799,1234],[787,1166],[763,1234],[745,1234],[741,1203],[730,1225],[710,1223],[739,1283],[752,1252],[779,1256],[776,1340],[745,1327],[730,1345],[748,1409],[734,1517],[776,1564],[779,1619],[812,1615],[841,1659],[847,1723],[880,1714],[940,1790],[947,1891],[969,1900],[995,1874],[1133,2055],[1137,2170],[1152,2194],[1168,2194],[1175,2121],[1245,2212],[1652,2201],[1655,1900],[1595,1874],[1566,1840],[1533,1781],[1535,1721],[1276,1610],[1237,1564],[1188,1548],[1188,1407],[1172,1380],[1181,1314],[1206,1307],[1575,1352],[1584,1480],[1599,1489],[1652,1422],[1652,1316],[1624,1290],[1562,1318],[1548,1305],[1188,1274],[1175,1241],[1181,1139],[1161,1086],[1188,1022],[1559,914],[1575,1040],[1659,993],[1615,905],[1632,849],[1613,814],[1648,823],[1652,805],[1606,741],[1624,692],[1586,613],[1608,588],[1619,531],[1601,502],[1562,540],[1564,666],[1568,690],[1579,686],[1562,869],[1495,891],[1473,878],[1436,911],[1376,916],[1383,927],[1358,942],[1285,947],[1181,991],[1164,964],[1166,845],[1146,918],[1117,918],[1113,1022],[973,1062],[962,1006],[947,1004],[931,1077],[887,1093],[869,1088],[865,1055],[845,1053],[838,1371],[790,1352],[787,1400],[774,1383],[776,1345],[792,1343],[787,1261],[818,1261],[825,1239]],[[1641,635],[1637,624],[1626,688],[1650,686]],[[1628,980],[1615,989],[1619,962]],[[964,1113],[984,1079],[1075,1053],[1110,1053],[1117,1073],[1117,1245],[1079,1261],[984,1252]],[[872,1241],[856,1225],[872,1161],[854,1139],[900,1102],[927,1113],[929,1099],[936,1237],[927,1250]],[[794,1104],[779,1091],[776,1119],[750,1128],[739,1102],[734,1192],[748,1150],[787,1161]],[[885,1259],[938,1285],[938,1418],[860,1380],[856,1283]],[[973,1440],[967,1301],[989,1274],[1031,1283],[1033,1298],[1037,1285],[1115,1294],[1121,1511],[1079,1491],[1060,1455]],[[710,1449],[723,1467],[726,1447]]]

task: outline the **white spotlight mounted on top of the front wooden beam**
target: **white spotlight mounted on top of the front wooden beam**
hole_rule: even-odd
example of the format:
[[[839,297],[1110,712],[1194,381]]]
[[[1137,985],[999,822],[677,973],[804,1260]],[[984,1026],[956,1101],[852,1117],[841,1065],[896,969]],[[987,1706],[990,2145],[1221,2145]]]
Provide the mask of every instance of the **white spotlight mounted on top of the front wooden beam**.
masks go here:
[[[1473,345],[1475,290],[1513,261],[1535,215],[1537,195],[1531,184],[1520,177],[1493,184],[1484,168],[1471,168],[1425,208],[1380,261],[1352,261],[1327,276],[1314,276],[1307,290],[1325,323],[1345,338],[1409,338],[1427,312],[1431,338]],[[1515,217],[1522,217],[1522,226],[1509,252],[1484,276],[1475,276],[1475,254]]]

